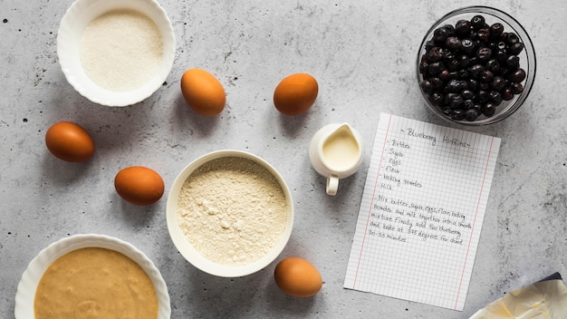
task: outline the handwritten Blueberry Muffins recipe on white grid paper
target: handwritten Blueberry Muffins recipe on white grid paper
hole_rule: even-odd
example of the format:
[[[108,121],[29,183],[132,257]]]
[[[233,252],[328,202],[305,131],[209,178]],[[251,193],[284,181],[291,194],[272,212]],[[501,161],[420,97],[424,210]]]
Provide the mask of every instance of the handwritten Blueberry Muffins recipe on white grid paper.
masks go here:
[[[462,311],[499,148],[380,114],[344,287]]]

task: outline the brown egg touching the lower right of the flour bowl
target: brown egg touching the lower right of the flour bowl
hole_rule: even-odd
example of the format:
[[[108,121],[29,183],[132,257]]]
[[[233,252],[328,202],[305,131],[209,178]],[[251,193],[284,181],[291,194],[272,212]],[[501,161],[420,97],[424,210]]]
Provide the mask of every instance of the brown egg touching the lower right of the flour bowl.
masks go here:
[[[287,295],[310,297],[322,287],[321,274],[315,266],[300,257],[288,257],[275,266],[275,284]]]

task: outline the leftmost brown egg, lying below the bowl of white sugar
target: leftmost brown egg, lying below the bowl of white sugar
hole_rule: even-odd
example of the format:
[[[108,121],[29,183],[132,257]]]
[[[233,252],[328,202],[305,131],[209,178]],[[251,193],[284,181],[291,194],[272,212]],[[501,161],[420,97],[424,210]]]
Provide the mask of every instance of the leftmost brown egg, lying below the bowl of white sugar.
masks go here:
[[[45,146],[56,158],[67,161],[85,161],[94,153],[94,140],[78,124],[60,121],[45,132]]]

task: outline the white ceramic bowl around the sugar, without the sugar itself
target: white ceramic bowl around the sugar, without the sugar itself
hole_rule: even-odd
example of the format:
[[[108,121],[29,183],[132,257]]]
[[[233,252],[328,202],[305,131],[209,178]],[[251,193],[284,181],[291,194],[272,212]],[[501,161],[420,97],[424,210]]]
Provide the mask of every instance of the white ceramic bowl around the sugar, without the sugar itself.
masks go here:
[[[157,26],[163,42],[163,54],[156,73],[142,86],[127,92],[111,91],[91,81],[85,73],[80,46],[82,34],[92,20],[114,10],[134,10],[148,16]],[[173,66],[175,34],[168,14],[156,0],[76,0],[64,14],[57,34],[57,55],[62,73],[82,96],[107,106],[127,106],[141,102],[166,81]]]

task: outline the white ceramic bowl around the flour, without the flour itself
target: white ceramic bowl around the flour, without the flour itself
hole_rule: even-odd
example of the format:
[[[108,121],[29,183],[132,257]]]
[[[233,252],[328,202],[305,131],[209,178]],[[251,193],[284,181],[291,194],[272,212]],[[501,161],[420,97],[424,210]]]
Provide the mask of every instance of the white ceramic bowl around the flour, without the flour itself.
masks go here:
[[[283,230],[283,234],[279,237],[276,245],[268,252],[267,255],[256,260],[255,262],[245,264],[243,266],[221,265],[208,260],[205,256],[202,256],[197,251],[197,249],[191,245],[178,222],[178,197],[185,180],[191,175],[191,173],[193,173],[193,171],[195,171],[208,161],[226,157],[238,157],[247,160],[254,160],[256,163],[267,169],[270,173],[272,173],[272,175],[274,175],[274,178],[282,187],[283,195],[285,196],[287,204],[286,225]],[[189,263],[210,275],[217,275],[222,277],[238,277],[250,275],[263,269],[265,266],[271,264],[274,259],[283,251],[283,248],[285,247],[285,245],[287,245],[293,229],[293,200],[290,190],[288,189],[287,184],[283,180],[282,176],[265,160],[262,160],[261,158],[245,151],[217,150],[201,156],[197,160],[189,163],[185,169],[181,170],[177,179],[175,179],[175,181],[173,182],[171,189],[169,189],[167,219],[169,236],[171,237],[171,240],[173,241],[175,246],[178,248],[179,253],[181,253],[181,255],[184,256]]]

